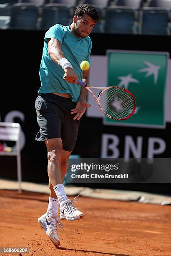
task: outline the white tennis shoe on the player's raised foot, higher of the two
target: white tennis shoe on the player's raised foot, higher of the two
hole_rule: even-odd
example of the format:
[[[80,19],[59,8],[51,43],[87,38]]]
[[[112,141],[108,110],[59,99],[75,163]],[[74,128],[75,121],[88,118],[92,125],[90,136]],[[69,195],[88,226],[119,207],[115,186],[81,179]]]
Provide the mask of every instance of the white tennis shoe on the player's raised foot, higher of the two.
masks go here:
[[[75,197],[76,198],[76,197]],[[74,199],[75,199],[74,198]],[[67,219],[67,220],[80,220],[84,218],[84,214],[83,212],[80,212],[77,208],[75,208],[75,206],[72,204],[72,202],[76,202],[76,200],[74,201],[74,199],[72,201],[68,201],[66,203],[64,203],[63,205],[61,205],[59,207],[60,210],[60,219]]]

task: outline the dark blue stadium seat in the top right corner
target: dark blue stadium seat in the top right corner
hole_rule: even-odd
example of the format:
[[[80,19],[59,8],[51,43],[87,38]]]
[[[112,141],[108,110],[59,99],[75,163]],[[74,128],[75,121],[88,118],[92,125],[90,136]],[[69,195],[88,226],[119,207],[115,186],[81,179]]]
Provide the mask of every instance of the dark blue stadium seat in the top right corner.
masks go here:
[[[171,35],[171,0],[148,0],[141,9],[141,33],[146,35]]]

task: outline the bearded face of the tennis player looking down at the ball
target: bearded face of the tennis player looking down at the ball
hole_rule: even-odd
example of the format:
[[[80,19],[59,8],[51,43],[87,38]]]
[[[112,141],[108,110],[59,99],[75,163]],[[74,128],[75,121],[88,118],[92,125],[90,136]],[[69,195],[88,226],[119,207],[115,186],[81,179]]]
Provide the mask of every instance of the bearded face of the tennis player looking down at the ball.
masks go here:
[[[88,36],[91,33],[93,26],[96,24],[95,21],[87,14],[84,14],[82,17],[74,16],[73,20],[75,23],[73,33],[75,36],[81,38]]]

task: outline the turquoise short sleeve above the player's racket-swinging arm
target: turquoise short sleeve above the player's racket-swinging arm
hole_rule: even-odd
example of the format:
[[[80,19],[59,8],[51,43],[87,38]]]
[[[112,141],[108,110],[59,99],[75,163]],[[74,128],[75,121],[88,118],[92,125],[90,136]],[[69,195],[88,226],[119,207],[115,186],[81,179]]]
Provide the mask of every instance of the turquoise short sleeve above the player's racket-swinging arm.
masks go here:
[[[63,37],[63,27],[60,24],[56,24],[55,26],[49,28],[49,30],[45,33],[44,41],[46,44],[48,44],[48,38],[56,38],[62,43]]]

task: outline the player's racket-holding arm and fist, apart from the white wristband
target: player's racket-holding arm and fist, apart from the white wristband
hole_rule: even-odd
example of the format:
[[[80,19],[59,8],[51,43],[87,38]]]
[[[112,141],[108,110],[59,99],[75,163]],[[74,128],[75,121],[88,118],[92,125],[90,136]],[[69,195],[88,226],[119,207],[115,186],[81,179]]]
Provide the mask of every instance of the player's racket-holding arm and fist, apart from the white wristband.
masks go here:
[[[62,62],[64,60],[63,58],[65,58],[63,51],[61,49],[61,46],[62,46],[62,43],[59,40],[57,40],[56,38],[48,39],[48,54],[49,54],[50,58],[57,64],[59,63],[59,61]],[[64,67],[63,70],[67,75],[65,80],[69,83],[76,84],[78,77],[75,74],[75,72],[73,71],[73,69],[71,67]]]

